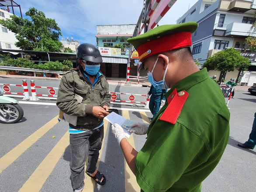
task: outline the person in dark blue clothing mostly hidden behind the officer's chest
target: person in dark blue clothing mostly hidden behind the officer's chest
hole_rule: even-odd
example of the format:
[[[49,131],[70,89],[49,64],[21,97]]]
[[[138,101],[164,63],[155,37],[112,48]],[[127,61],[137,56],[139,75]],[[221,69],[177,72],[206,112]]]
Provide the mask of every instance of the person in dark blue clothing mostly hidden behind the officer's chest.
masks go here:
[[[166,93],[166,91],[167,89],[156,89],[154,86],[150,87],[149,110],[153,115],[153,117],[151,118],[151,121],[156,117],[156,114],[160,109],[162,99],[165,100],[164,94]]]

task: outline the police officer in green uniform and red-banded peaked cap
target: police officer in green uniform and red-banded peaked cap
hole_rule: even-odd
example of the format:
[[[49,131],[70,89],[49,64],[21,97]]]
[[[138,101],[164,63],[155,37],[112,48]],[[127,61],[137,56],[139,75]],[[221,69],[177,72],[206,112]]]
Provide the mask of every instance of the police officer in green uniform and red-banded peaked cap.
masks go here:
[[[147,134],[137,152],[117,123],[112,132],[144,192],[200,192],[229,138],[229,110],[207,69],[199,70],[190,46],[196,22],[162,25],[128,39],[152,86],[170,90],[154,120],[130,132]],[[211,87],[211,89],[208,89]]]

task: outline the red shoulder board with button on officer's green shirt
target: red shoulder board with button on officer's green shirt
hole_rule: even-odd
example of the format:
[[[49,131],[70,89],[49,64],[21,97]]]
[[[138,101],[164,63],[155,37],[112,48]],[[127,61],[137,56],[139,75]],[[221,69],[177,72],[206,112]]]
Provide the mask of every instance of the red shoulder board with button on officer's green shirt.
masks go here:
[[[167,98],[168,106],[166,107],[166,110],[163,112],[159,120],[175,124],[188,95],[189,94],[186,91],[180,91],[177,93],[175,88]]]

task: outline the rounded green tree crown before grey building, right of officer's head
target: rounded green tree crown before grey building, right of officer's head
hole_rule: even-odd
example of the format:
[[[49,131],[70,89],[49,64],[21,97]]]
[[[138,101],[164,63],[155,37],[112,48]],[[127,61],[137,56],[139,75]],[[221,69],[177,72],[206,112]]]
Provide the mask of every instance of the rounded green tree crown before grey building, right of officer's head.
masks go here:
[[[204,62],[203,67],[206,67],[208,71],[246,71],[250,66],[249,58],[240,55],[238,50],[234,48],[228,48],[215,53],[213,56]]]

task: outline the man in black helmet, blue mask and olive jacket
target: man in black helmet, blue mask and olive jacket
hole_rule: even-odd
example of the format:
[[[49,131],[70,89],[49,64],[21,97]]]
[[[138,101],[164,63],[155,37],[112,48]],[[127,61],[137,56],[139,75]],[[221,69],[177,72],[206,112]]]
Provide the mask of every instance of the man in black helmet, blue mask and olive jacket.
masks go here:
[[[107,79],[99,71],[102,57],[96,46],[88,43],[79,45],[76,62],[78,67],[62,76],[56,104],[62,112],[78,117],[76,125],[69,123],[70,169],[73,191],[81,192],[87,156],[86,174],[99,185],[106,182],[104,175],[97,171],[96,164],[104,137],[103,117],[109,114],[111,95]],[[81,103],[75,99],[75,94],[83,97]]]

